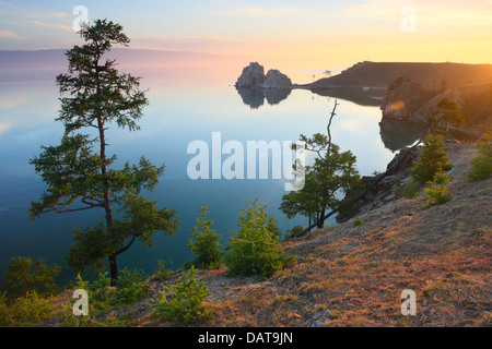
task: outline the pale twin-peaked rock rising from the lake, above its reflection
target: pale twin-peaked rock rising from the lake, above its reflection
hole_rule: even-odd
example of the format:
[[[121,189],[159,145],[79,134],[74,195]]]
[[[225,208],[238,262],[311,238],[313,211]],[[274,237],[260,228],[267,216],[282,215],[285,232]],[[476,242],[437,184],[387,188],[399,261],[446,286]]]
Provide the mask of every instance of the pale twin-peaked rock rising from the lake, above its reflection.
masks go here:
[[[265,69],[258,62],[251,62],[243,69],[235,85],[237,88],[292,88],[292,81],[285,74],[272,69],[265,75]]]

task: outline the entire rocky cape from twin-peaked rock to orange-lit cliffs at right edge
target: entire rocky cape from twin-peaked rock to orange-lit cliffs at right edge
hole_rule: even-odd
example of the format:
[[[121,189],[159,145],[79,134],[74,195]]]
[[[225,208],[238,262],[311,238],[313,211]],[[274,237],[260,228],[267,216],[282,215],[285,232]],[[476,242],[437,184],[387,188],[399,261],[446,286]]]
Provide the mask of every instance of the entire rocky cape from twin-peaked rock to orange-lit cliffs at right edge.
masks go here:
[[[312,84],[294,84],[280,71],[265,74],[262,65],[251,62],[235,86],[251,108],[262,105],[263,98],[277,104],[294,88],[333,97],[348,89],[353,95],[355,89],[366,95],[370,105],[380,106],[382,123],[387,129],[391,121],[425,125],[441,99],[455,101],[465,116],[465,125],[455,136],[477,137],[492,124],[492,64],[364,61]],[[267,96],[268,91],[278,93]]]

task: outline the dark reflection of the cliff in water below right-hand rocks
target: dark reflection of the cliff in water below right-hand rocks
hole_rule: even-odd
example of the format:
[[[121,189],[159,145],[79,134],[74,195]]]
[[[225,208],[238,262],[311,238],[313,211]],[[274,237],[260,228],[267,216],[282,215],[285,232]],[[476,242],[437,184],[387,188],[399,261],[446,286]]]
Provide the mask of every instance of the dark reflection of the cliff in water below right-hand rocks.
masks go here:
[[[379,122],[379,128],[380,140],[385,147],[393,152],[413,144],[425,134],[427,129],[422,123],[388,119],[383,119]]]

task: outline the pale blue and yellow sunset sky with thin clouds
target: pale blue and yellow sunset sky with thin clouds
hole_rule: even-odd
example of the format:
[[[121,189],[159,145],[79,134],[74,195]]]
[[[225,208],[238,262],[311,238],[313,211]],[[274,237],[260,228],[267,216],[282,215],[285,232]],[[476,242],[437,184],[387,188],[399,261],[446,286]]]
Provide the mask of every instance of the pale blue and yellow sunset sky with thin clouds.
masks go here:
[[[121,24],[139,49],[304,69],[364,60],[492,63],[492,0],[0,0],[0,49],[80,45],[73,23],[85,14]]]

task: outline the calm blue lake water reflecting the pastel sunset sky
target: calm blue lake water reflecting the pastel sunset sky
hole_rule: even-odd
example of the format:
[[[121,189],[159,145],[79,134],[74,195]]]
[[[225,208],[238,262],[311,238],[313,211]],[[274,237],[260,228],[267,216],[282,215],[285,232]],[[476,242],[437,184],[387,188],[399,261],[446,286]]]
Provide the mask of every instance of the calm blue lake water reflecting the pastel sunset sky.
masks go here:
[[[1,274],[12,256],[43,257],[48,264],[65,267],[63,256],[72,245],[73,228],[85,228],[104,216],[102,210],[92,210],[48,214],[35,221],[27,218],[30,203],[37,201],[46,188],[28,161],[40,153],[40,145],[59,144],[63,132],[62,125],[54,121],[59,109],[55,76],[65,68],[58,72],[23,72],[19,80],[12,79],[11,73],[8,81],[0,81]],[[261,205],[268,205],[282,231],[306,225],[306,218],[289,220],[278,209],[286,193],[285,180],[194,181],[187,176],[188,161],[194,157],[187,154],[188,144],[201,140],[211,145],[212,132],[221,132],[222,143],[238,141],[245,148],[247,141],[295,142],[301,133],[326,132],[335,97],[302,89],[286,96],[241,96],[233,87],[239,73],[241,70],[219,72],[189,67],[137,69],[143,77],[142,87],[150,88],[150,106],[140,122],[141,131],[129,133],[115,127],[108,132],[108,152],[118,155],[118,167],[126,161],[137,163],[142,155],[155,165],[165,163],[164,177],[149,196],[159,201],[161,207],[177,209],[183,224],[174,237],[156,234],[155,249],[134,244],[119,256],[120,269],[152,273],[159,258],[174,269],[192,260],[186,245],[201,206],[210,207],[209,218],[223,237],[222,245],[233,234],[231,230],[237,228],[238,209],[245,207],[245,201],[256,197]],[[331,129],[333,143],[356,155],[362,176],[385,170],[395,155],[391,149],[397,146],[382,141],[377,96],[348,91],[337,92],[337,98],[340,106]],[[400,136],[395,139],[401,142]],[[73,275],[65,267],[63,276]]]

